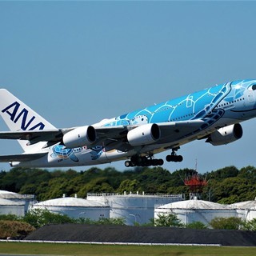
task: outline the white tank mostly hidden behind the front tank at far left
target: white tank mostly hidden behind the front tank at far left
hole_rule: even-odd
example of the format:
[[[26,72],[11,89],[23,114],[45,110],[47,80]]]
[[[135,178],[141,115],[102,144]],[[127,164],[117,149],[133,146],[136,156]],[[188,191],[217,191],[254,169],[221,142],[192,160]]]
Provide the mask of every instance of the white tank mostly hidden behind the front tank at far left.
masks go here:
[[[0,198],[8,199],[13,202],[24,202],[24,213],[28,211],[30,204],[34,201],[34,194],[18,194],[6,190],[0,190]]]

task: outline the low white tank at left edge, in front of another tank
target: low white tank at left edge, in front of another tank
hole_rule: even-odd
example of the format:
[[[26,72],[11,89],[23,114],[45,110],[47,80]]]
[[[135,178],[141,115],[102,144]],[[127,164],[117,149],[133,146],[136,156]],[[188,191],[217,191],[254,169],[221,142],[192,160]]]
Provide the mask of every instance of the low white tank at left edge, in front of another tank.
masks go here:
[[[0,198],[0,214],[14,214],[24,216],[25,202],[13,202]]]

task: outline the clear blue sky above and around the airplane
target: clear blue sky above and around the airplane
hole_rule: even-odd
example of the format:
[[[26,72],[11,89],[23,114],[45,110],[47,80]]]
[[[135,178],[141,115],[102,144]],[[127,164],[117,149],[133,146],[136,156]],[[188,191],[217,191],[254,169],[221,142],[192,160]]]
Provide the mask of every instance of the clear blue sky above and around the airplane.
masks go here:
[[[59,128],[256,78],[256,2],[0,2],[0,85]],[[228,146],[191,142],[170,171],[256,165],[256,120]],[[7,130],[3,121],[0,130]],[[0,154],[18,154],[0,142]],[[168,153],[168,152],[167,152]],[[166,154],[158,157],[165,158]],[[111,163],[125,170],[123,162]],[[79,167],[76,170],[87,170]],[[0,170],[9,170],[0,163]]]

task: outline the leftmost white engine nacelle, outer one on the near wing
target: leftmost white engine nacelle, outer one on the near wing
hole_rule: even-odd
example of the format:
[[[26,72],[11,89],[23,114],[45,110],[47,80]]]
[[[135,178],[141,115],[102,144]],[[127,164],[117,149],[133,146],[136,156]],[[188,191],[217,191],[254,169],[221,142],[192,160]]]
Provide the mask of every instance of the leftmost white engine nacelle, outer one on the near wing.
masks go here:
[[[93,126],[81,126],[64,134],[63,144],[67,148],[90,146],[96,141],[96,131]]]

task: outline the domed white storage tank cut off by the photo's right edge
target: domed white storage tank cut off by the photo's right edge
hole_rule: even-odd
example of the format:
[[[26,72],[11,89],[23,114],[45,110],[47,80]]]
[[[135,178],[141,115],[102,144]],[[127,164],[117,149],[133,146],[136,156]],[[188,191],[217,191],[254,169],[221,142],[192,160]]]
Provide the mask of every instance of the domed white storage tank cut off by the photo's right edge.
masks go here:
[[[256,198],[251,201],[233,203],[230,208],[236,210],[238,217],[246,221],[256,218]]]

